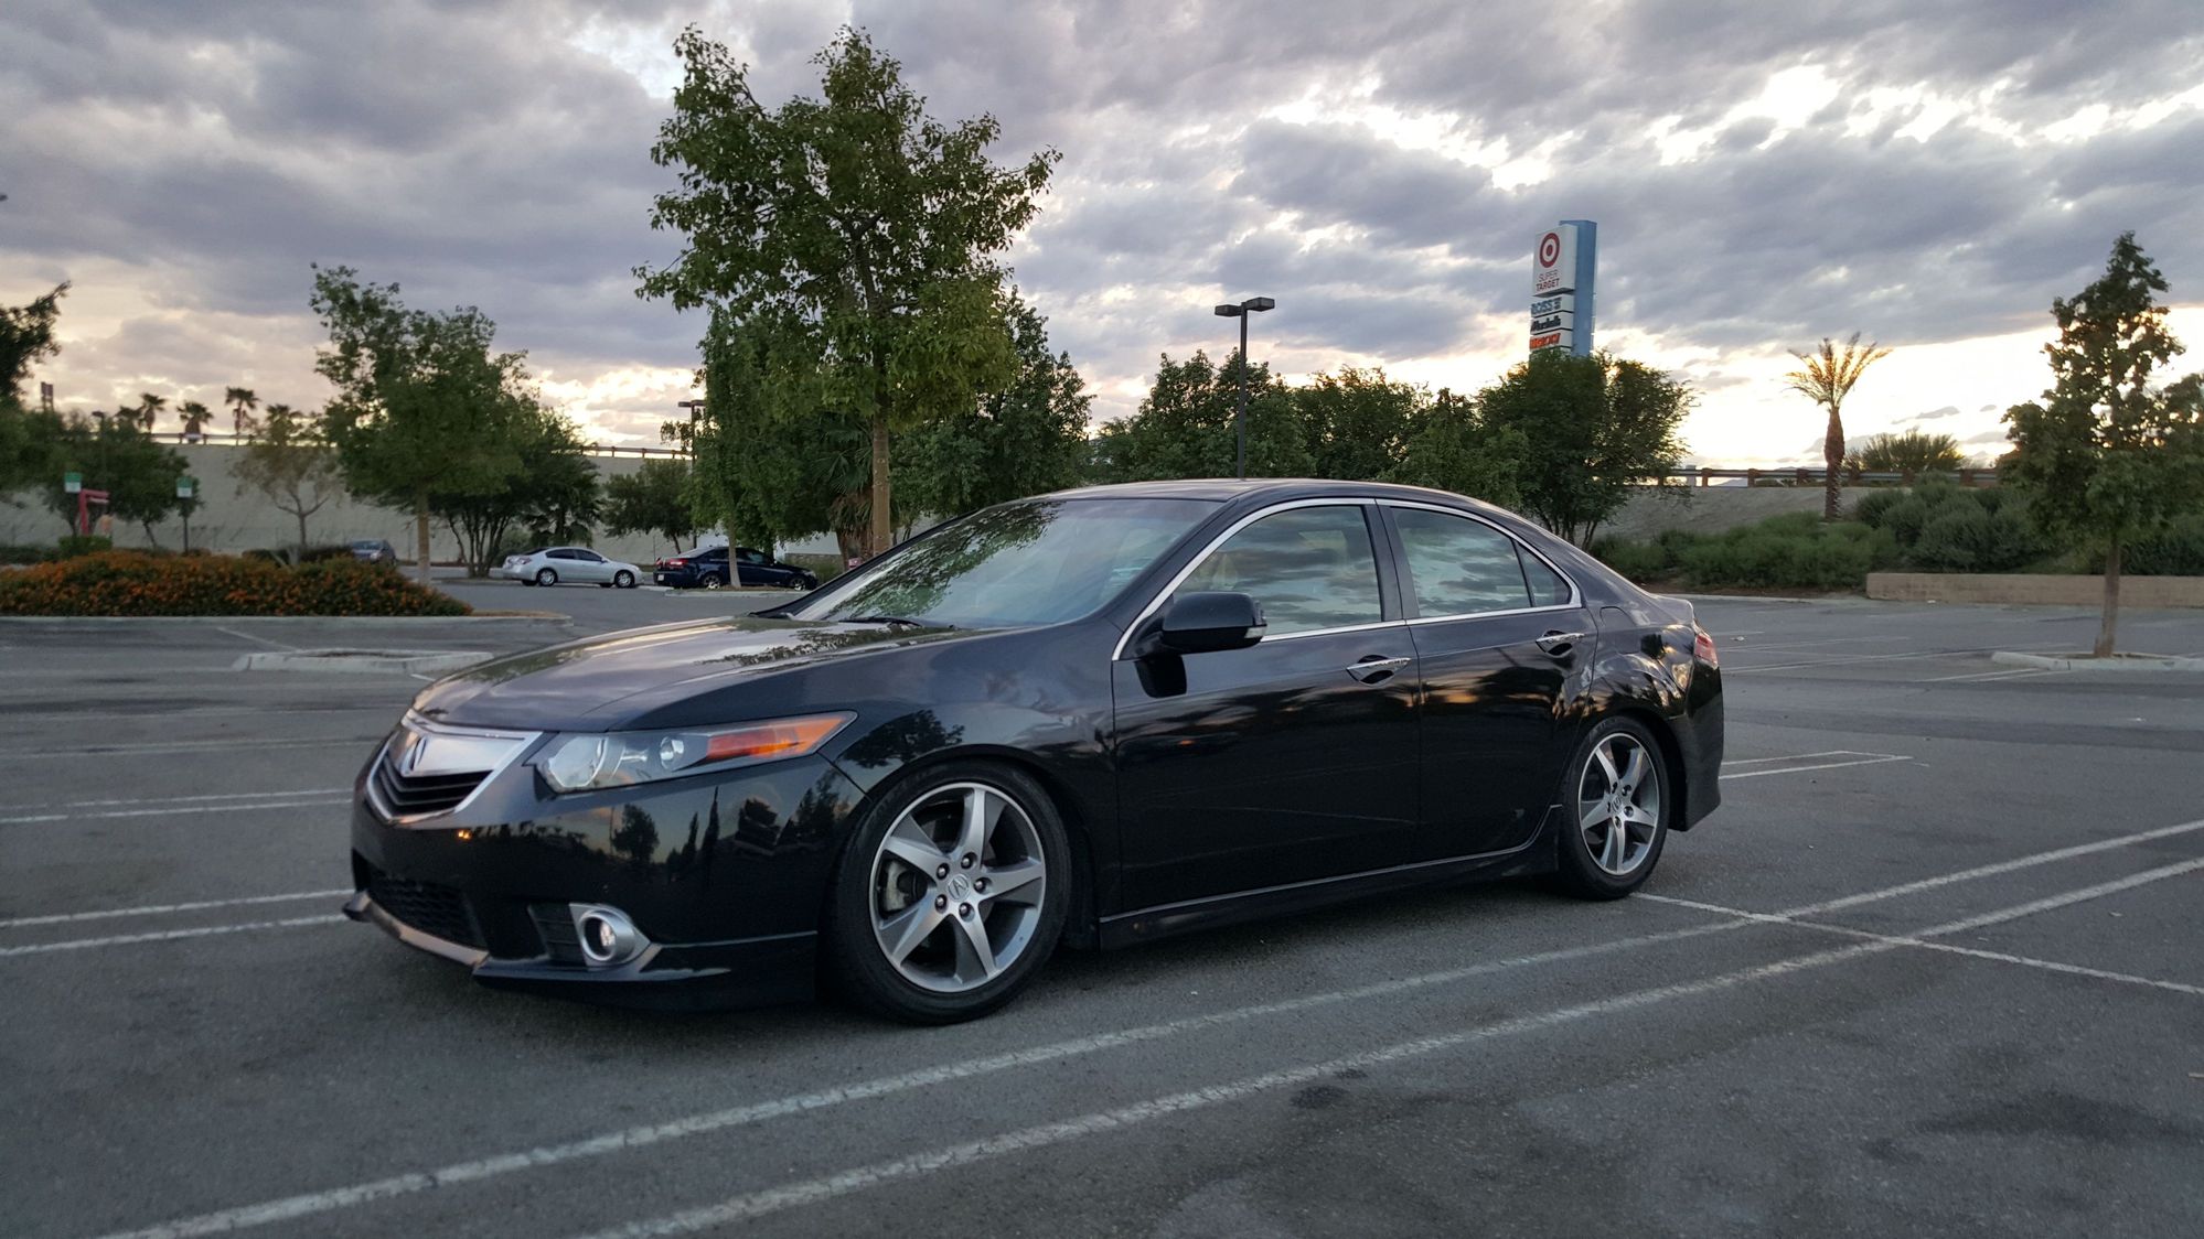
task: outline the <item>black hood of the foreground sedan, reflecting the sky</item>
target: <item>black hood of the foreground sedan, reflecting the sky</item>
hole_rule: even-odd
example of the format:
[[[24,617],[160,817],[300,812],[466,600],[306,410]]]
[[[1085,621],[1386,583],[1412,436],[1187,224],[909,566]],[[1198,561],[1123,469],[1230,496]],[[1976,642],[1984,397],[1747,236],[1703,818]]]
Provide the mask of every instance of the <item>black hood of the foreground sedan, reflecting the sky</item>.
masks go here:
[[[480,662],[430,684],[414,709],[463,726],[617,731],[745,678],[972,636],[981,632],[758,616],[639,627]]]

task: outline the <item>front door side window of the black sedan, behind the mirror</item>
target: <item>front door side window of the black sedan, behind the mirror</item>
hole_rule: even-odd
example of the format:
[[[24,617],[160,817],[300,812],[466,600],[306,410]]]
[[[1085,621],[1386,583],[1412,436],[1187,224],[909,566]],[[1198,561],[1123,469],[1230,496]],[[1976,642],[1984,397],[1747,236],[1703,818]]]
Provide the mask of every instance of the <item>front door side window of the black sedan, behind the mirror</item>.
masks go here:
[[[1378,623],[1378,555],[1360,506],[1287,508],[1234,533],[1179,585],[1263,603],[1270,636]]]

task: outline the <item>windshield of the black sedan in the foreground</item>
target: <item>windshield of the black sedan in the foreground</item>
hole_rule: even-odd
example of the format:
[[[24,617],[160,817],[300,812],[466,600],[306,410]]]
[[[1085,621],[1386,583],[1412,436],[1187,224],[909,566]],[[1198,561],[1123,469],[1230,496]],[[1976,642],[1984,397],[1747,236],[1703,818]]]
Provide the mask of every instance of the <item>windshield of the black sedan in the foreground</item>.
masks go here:
[[[791,618],[1027,627],[1091,614],[1217,504],[1031,500],[974,513],[829,585]]]

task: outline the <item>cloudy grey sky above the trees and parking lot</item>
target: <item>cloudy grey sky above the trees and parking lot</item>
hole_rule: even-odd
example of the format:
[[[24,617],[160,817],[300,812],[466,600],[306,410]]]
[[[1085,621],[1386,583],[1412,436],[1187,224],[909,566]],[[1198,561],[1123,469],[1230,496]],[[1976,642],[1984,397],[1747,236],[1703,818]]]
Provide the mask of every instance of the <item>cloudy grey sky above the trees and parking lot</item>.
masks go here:
[[[1847,429],[1975,451],[2048,379],[2050,299],[2136,229],[2204,365],[2204,0],[7,0],[0,301],[71,279],[68,407],[231,383],[317,405],[309,264],[476,304],[602,440],[688,398],[701,321],[637,301],[672,35],[760,97],[860,24],[998,158],[1062,152],[1009,255],[1098,394],[1221,352],[1472,390],[1530,246],[1600,222],[1600,346],[1688,376],[1721,464],[1818,460],[1785,350],[1898,352]]]

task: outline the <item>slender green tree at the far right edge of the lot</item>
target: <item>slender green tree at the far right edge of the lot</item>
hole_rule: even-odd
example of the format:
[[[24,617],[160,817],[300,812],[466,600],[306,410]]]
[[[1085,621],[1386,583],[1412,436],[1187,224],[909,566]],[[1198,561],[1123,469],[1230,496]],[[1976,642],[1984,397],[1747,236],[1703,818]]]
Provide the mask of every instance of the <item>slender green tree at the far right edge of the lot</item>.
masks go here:
[[[2158,293],[2164,275],[2120,233],[2105,275],[2072,301],[2052,299],[2059,341],[2043,346],[2052,385],[2012,405],[2010,480],[2039,530],[2105,548],[2105,616],[2096,656],[2120,623],[2120,555],[2204,508],[2204,374],[2158,387],[2151,374],[2182,352]]]

